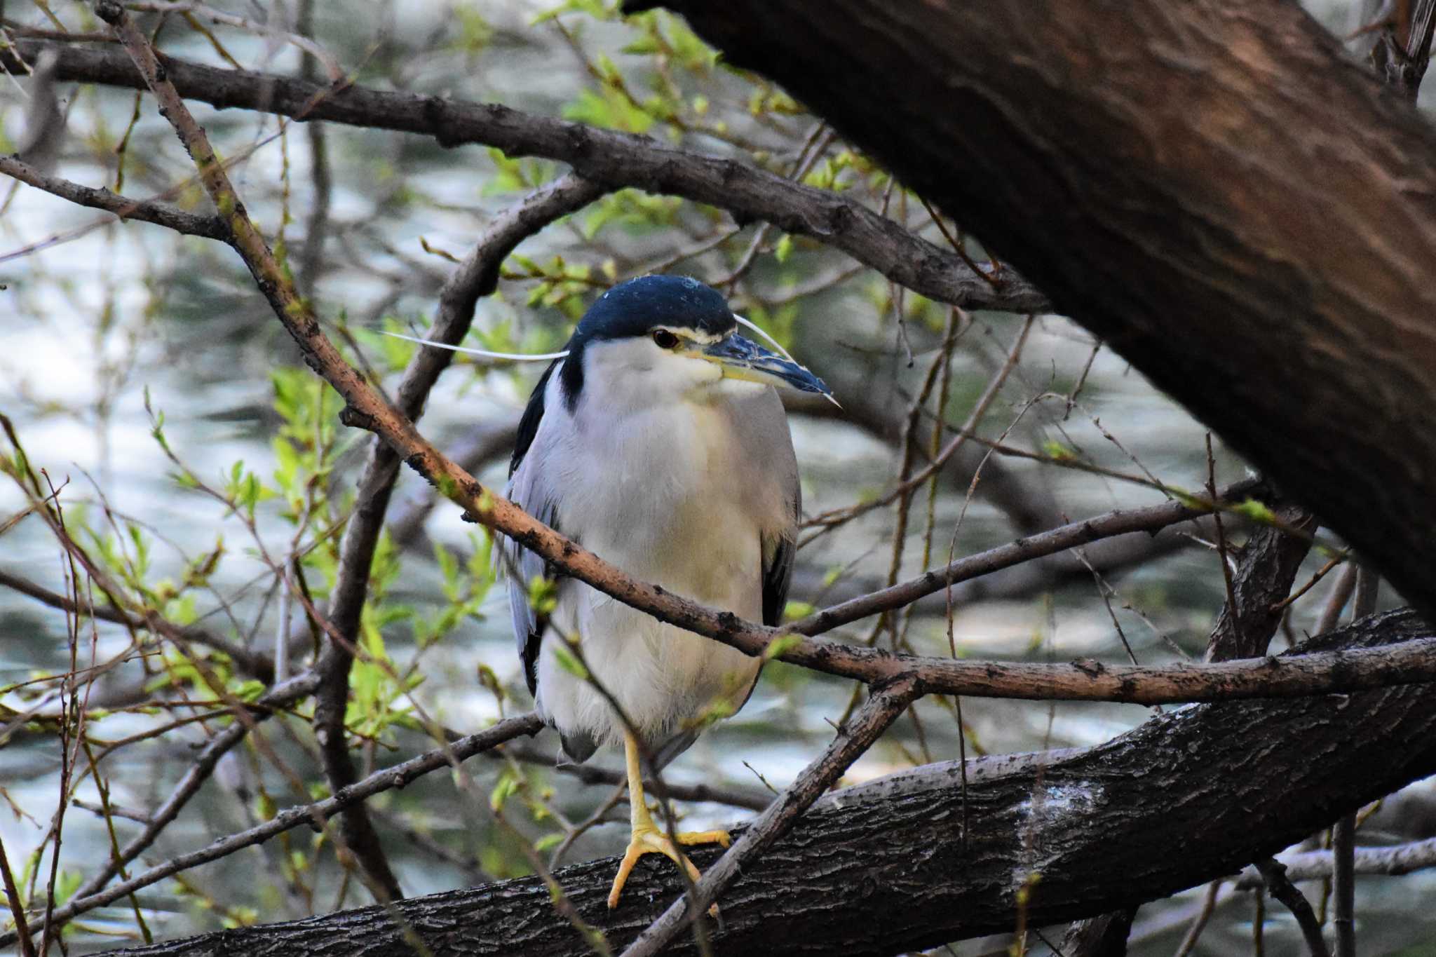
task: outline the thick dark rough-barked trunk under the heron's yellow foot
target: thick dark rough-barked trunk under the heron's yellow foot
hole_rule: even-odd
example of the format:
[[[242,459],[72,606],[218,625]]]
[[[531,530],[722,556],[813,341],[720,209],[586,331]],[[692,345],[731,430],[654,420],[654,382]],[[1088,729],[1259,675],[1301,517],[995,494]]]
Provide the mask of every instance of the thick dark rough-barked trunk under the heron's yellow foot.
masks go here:
[[[1390,613],[1317,638],[1344,647],[1427,636]],[[718,954],[893,954],[1106,913],[1234,874],[1256,857],[1436,770],[1425,686],[1169,710],[1106,745],[1014,762],[962,788],[929,765],[820,802],[721,898]],[[699,852],[699,867],[715,852]],[[616,859],[557,872],[612,944],[678,894],[666,861],[639,864],[610,913]],[[536,878],[396,905],[435,957],[592,950]],[[692,953],[691,941],[673,953]],[[208,934],[116,954],[319,957],[414,953],[381,907]]]

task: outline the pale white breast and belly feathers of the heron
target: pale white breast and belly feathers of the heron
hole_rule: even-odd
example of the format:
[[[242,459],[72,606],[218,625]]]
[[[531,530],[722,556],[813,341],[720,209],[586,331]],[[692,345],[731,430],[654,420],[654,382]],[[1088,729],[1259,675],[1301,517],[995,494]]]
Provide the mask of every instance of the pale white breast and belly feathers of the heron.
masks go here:
[[[550,389],[540,428],[554,426],[554,435],[536,440],[544,461],[533,465],[563,489],[560,528],[635,578],[761,620],[763,537],[790,531],[796,519],[796,465],[777,396],[750,389],[704,403],[625,407],[625,396],[593,393],[570,416],[557,376]],[[774,413],[783,448],[774,462],[755,461],[777,438]],[[754,435],[754,422],[767,435]],[[757,677],[755,659],[573,580],[561,583],[550,620],[579,638],[593,676],[653,746],[715,706],[737,709]],[[556,644],[549,634],[538,657],[540,713],[567,733],[622,742],[605,697],[559,663]]]

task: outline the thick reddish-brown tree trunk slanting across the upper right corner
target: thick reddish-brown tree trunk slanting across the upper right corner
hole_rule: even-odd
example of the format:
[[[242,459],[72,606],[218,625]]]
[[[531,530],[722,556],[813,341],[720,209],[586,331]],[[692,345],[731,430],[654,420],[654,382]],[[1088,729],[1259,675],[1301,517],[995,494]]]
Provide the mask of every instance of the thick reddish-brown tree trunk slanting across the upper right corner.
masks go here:
[[[1436,132],[1298,4],[665,6],[1436,610]]]

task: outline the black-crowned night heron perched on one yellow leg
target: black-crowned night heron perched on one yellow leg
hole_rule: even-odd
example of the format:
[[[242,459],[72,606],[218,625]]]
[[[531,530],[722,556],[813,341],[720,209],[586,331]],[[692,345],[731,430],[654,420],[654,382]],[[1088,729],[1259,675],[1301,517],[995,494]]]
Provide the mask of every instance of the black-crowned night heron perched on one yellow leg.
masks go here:
[[[635,578],[777,624],[800,492],[773,387],[831,395],[740,336],[740,321],[691,278],[648,275],[605,293],[528,399],[508,496]],[[696,880],[649,815],[640,758],[661,766],[742,707],[761,663],[572,578],[536,608],[544,561],[513,542],[505,550],[518,654],[538,713],[559,730],[560,759],[623,745],[632,835],[609,907],[643,854],[663,854]],[[724,831],[676,836],[728,844]]]

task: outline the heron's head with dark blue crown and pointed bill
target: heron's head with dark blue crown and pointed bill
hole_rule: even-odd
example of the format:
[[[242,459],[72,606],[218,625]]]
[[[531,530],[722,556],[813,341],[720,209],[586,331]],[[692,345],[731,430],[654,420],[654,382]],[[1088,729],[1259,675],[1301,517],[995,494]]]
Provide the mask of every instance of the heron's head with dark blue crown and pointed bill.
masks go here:
[[[589,307],[563,367],[570,402],[593,380],[610,400],[659,405],[774,386],[831,397],[821,379],[738,333],[714,288],[682,275],[615,286]],[[622,396],[622,399],[620,399]]]

